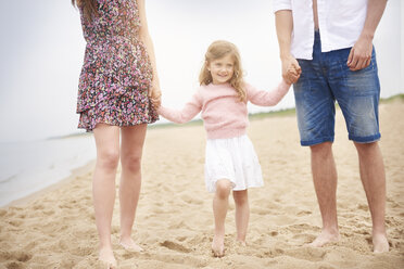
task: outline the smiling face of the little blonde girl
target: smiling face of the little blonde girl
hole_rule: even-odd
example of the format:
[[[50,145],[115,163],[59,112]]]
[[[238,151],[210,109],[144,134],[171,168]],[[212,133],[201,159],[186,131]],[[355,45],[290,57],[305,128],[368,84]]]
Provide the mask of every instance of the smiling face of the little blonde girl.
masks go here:
[[[210,62],[207,69],[214,85],[227,84],[235,74],[235,60],[231,54],[227,54]]]

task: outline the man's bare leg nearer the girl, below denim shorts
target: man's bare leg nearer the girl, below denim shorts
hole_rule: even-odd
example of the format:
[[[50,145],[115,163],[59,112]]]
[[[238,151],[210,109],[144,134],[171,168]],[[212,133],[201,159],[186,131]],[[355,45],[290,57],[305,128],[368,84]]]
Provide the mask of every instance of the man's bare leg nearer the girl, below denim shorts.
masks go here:
[[[314,188],[323,219],[321,233],[308,245],[323,246],[339,240],[337,219],[337,168],[332,143],[311,146]]]

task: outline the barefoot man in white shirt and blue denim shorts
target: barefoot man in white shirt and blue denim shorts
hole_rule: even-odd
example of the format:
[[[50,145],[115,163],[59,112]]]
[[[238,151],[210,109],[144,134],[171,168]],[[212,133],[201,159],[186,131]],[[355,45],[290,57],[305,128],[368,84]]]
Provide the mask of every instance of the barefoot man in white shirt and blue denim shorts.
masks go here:
[[[323,231],[312,246],[339,240],[334,101],[358,153],[373,220],[374,252],[389,251],[386,176],[378,140],[380,86],[373,38],[387,0],[274,0],[282,75],[294,82],[301,144],[310,146]],[[298,61],[296,61],[298,59]],[[288,74],[290,66],[301,74]]]

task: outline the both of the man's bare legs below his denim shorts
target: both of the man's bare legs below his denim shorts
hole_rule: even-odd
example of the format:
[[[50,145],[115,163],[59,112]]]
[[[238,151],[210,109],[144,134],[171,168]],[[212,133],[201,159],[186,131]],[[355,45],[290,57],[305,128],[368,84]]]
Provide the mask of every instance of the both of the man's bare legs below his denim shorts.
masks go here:
[[[388,252],[389,242],[384,225],[386,175],[379,144],[377,142],[354,144],[358,153],[361,179],[371,215],[374,252]],[[313,180],[323,218],[323,231],[310,244],[312,246],[323,246],[339,240],[337,169],[331,146],[329,142],[311,146]]]

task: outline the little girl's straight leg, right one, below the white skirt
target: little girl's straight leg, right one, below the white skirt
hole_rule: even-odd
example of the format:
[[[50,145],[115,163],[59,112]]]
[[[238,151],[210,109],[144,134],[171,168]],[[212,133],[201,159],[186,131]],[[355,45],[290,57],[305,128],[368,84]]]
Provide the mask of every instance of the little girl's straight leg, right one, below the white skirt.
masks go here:
[[[237,241],[245,245],[247,228],[250,219],[250,205],[248,191],[233,191],[232,197],[236,204]]]

